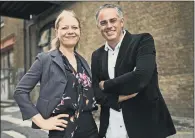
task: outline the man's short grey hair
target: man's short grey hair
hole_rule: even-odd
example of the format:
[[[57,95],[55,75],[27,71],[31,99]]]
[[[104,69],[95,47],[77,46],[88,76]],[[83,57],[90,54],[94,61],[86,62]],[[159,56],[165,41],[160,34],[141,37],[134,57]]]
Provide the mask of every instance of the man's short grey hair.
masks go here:
[[[96,23],[98,24],[98,16],[99,16],[99,13],[102,9],[107,9],[107,8],[114,8],[116,9],[117,13],[118,13],[118,16],[119,18],[123,18],[123,11],[122,9],[117,6],[117,5],[114,5],[114,4],[104,4],[103,6],[101,6],[97,12],[96,12],[96,15],[95,15],[95,19],[96,19]]]

